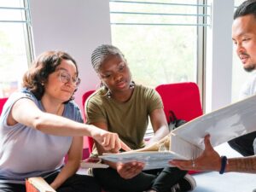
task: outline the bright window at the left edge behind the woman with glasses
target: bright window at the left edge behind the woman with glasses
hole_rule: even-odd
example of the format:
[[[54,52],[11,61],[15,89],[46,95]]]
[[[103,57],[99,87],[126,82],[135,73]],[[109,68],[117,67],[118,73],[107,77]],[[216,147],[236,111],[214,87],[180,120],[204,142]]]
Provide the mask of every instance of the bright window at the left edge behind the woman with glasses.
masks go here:
[[[28,0],[0,0],[0,18],[0,97],[8,97],[32,61]]]

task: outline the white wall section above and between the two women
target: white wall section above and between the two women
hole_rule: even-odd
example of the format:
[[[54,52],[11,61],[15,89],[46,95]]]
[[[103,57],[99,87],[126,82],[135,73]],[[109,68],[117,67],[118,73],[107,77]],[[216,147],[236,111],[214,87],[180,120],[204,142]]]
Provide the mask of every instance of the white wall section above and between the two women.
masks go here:
[[[111,42],[108,1],[32,0],[31,14],[36,55],[59,49],[78,62],[82,83],[75,101],[81,106],[84,91],[96,89],[98,84],[90,54],[96,46]]]

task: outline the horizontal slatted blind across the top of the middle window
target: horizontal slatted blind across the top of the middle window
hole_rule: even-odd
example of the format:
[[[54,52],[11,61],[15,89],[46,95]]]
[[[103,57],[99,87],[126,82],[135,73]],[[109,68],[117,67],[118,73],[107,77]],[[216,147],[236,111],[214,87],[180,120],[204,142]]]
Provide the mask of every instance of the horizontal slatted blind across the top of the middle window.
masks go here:
[[[163,2],[109,0],[109,5],[111,25],[211,25],[211,6],[206,1],[187,0],[175,3],[172,0]]]

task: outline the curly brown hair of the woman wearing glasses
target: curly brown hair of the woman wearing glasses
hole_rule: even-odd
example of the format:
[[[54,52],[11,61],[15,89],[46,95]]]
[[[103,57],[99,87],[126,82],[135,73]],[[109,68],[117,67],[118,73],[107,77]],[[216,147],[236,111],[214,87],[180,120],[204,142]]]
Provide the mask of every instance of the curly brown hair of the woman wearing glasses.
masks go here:
[[[23,87],[32,91],[37,99],[41,100],[44,95],[44,83],[48,81],[49,74],[55,72],[56,67],[61,64],[62,60],[73,61],[77,69],[77,76],[79,76],[77,62],[71,55],[63,51],[51,50],[38,55],[35,61],[33,61],[32,67],[23,76]],[[73,96],[70,100],[73,100]]]

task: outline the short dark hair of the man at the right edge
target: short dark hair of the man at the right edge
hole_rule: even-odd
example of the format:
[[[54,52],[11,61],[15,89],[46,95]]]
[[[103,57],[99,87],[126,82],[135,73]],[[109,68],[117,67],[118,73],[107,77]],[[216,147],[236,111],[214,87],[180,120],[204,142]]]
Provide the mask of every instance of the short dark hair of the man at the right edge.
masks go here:
[[[254,15],[256,18],[256,0],[247,0],[236,9],[233,19],[245,15]]]

